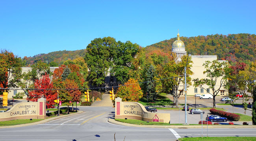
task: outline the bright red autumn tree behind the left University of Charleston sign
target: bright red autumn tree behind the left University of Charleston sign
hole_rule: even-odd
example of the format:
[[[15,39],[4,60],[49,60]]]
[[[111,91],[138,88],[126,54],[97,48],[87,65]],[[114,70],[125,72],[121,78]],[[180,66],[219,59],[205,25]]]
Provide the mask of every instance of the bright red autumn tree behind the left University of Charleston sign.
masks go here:
[[[50,81],[49,75],[43,75],[40,79],[35,81],[34,89],[29,91],[27,100],[37,101],[39,98],[46,98],[46,106],[54,108],[54,100],[57,99],[57,93],[53,89],[53,84]]]

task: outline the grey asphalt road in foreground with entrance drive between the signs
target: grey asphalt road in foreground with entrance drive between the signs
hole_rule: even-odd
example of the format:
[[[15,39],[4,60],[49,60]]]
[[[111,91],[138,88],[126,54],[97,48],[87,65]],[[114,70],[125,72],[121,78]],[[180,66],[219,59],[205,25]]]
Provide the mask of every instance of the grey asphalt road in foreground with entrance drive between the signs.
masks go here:
[[[1,141],[176,141],[179,137],[200,137],[202,129],[141,128],[108,123],[112,107],[79,107],[82,114],[48,123],[0,129]],[[196,115],[197,116],[197,115]],[[256,129],[208,129],[209,137],[253,136]],[[207,129],[203,129],[207,136]],[[124,139],[125,138],[125,139]]]

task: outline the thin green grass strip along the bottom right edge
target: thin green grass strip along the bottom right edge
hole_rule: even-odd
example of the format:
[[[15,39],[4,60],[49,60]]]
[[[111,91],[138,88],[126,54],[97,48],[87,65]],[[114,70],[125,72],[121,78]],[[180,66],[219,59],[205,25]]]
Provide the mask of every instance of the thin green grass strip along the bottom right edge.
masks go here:
[[[180,141],[255,141],[256,137],[184,137]]]

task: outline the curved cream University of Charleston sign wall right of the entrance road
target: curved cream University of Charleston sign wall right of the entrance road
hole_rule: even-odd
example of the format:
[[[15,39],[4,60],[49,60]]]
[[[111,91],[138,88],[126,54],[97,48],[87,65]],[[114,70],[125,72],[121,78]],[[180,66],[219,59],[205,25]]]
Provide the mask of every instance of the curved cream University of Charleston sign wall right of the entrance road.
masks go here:
[[[151,113],[141,103],[122,102],[122,99],[119,97],[115,99],[115,118],[170,123],[170,114]]]

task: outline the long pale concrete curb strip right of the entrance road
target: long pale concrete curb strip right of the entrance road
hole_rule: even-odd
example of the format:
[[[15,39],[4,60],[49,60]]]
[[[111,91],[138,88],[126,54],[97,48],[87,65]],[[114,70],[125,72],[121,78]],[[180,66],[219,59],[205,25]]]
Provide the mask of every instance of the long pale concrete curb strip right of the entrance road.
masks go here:
[[[147,127],[147,128],[202,128],[202,125],[133,125],[130,123],[122,123],[115,119],[108,119],[108,122],[114,125],[131,126],[131,127]],[[203,125],[207,128],[207,125]],[[255,125],[208,125],[208,128],[256,128]]]

